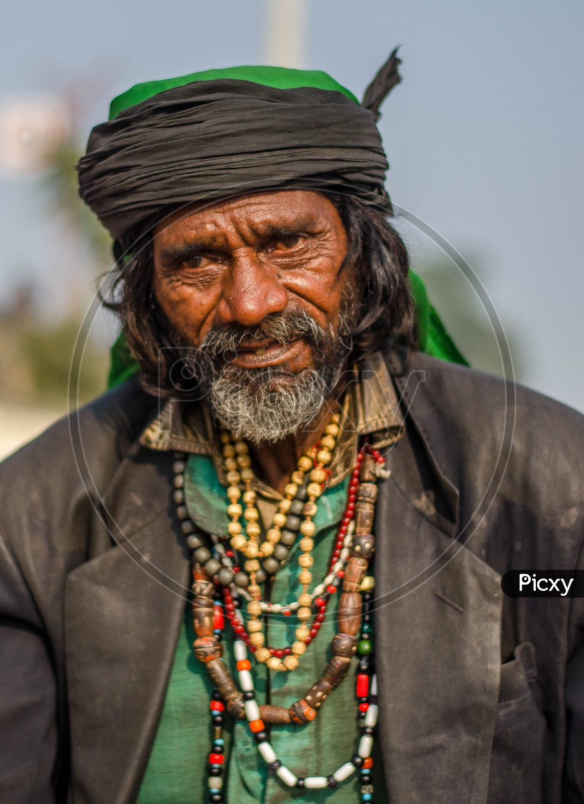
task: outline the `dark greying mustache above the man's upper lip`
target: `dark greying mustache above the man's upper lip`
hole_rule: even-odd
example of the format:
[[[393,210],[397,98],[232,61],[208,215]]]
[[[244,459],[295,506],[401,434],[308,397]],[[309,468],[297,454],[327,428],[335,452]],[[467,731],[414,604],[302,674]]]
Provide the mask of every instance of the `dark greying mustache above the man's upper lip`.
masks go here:
[[[261,326],[250,329],[247,326],[232,325],[220,330],[211,330],[203,338],[199,347],[212,358],[225,352],[236,351],[246,343],[270,340],[276,343],[292,343],[303,339],[309,346],[319,349],[328,340],[325,330],[306,310],[294,308],[283,313],[272,314]]]

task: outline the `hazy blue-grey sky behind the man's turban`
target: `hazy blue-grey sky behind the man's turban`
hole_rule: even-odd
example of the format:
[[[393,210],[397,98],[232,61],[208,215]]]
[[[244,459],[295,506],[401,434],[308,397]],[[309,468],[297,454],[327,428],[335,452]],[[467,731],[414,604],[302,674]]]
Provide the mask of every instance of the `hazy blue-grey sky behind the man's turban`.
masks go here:
[[[401,45],[403,82],[380,122],[390,195],[476,270],[517,336],[522,379],[584,411],[584,4],[306,3],[304,67],[359,97]],[[265,63],[265,19],[265,0],[10,3],[0,100],[91,79],[88,133],[132,84]],[[430,240],[401,231],[416,264],[432,259]],[[0,178],[0,304],[30,280],[59,310],[76,260],[59,242],[39,181]]]

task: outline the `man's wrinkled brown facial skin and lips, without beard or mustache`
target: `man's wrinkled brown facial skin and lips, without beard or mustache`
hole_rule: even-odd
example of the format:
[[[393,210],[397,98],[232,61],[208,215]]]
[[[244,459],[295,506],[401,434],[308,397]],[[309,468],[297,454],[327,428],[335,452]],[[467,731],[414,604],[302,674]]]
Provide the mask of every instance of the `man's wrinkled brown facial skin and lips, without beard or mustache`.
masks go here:
[[[267,316],[300,308],[323,330],[336,332],[351,272],[339,273],[347,252],[341,217],[312,191],[243,196],[175,215],[155,232],[154,293],[186,343],[200,347],[211,330],[256,330]],[[232,357],[243,369],[314,367],[302,339],[245,343]]]

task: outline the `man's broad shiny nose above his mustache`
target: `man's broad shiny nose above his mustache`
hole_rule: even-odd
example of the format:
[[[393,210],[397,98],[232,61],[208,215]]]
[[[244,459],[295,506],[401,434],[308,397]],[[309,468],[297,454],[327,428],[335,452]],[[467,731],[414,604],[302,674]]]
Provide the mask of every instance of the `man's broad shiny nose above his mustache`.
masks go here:
[[[222,323],[258,326],[268,314],[281,313],[287,304],[288,293],[271,265],[251,248],[234,256],[218,306]]]

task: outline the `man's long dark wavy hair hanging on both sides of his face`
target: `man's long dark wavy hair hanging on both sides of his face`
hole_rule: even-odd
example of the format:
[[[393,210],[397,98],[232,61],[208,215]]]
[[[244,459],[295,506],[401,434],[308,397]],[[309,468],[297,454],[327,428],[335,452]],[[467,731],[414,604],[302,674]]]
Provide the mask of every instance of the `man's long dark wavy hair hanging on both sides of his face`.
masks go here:
[[[349,360],[374,351],[393,340],[413,347],[417,338],[414,301],[407,281],[409,267],[405,244],[381,212],[345,195],[327,195],[341,215],[348,239],[341,270],[357,269],[358,314],[350,332]],[[153,293],[153,230],[169,212],[153,215],[116,240],[116,267],[104,306],[115,312],[126,343],[141,367],[144,388],[157,394],[176,392],[169,371],[184,354],[180,336],[173,331]],[[175,371],[173,371],[175,375]]]

